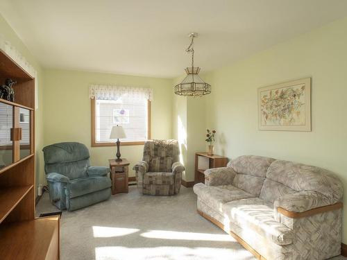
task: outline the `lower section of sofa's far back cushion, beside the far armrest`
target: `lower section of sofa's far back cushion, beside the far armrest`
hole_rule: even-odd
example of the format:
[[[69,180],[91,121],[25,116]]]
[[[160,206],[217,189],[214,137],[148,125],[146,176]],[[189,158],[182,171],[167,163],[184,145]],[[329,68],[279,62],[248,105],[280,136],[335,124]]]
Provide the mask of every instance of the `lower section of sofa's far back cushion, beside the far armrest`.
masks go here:
[[[238,189],[242,189],[243,191],[251,193],[255,197],[259,197],[264,180],[264,177],[237,174],[234,177],[234,180],[232,180],[232,185],[234,185]]]

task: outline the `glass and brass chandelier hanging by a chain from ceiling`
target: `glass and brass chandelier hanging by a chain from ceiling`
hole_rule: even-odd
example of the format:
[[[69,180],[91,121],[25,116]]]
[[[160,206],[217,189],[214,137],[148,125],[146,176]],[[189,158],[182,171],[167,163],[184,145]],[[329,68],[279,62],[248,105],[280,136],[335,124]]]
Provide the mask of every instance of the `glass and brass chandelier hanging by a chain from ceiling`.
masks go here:
[[[203,96],[211,93],[211,85],[205,83],[198,73],[199,67],[194,67],[194,38],[198,36],[197,33],[189,33],[188,35],[192,38],[190,45],[185,50],[187,53],[192,53],[192,67],[185,68],[187,76],[184,80],[174,87],[175,94],[179,96]]]

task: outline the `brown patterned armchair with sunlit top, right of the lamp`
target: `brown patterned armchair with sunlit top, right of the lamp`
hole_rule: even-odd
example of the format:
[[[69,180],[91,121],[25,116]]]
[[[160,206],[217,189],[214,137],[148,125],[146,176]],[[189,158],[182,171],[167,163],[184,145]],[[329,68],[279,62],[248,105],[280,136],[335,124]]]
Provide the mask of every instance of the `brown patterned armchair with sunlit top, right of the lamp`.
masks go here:
[[[174,195],[180,192],[185,167],[179,162],[176,140],[151,140],[144,144],[144,155],[133,170],[137,188],[147,195]]]

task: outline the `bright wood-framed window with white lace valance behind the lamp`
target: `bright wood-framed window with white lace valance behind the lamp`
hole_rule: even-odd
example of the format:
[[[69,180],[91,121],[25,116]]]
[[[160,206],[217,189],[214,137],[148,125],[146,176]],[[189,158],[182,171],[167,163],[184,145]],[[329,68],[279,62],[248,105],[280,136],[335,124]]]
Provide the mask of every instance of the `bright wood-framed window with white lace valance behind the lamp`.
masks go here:
[[[115,146],[115,140],[109,138],[113,125],[124,128],[126,138],[121,139],[121,145],[144,144],[150,139],[148,93],[148,89],[91,86],[92,146]]]

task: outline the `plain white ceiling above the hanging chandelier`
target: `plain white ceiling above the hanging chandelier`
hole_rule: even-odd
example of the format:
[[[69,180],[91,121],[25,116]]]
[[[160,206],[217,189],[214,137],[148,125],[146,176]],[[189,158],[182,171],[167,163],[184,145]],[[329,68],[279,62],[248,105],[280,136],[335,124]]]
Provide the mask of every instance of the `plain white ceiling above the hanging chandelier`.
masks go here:
[[[346,0],[0,0],[49,68],[176,77],[210,71],[347,15]],[[1,33],[1,32],[0,32]]]

